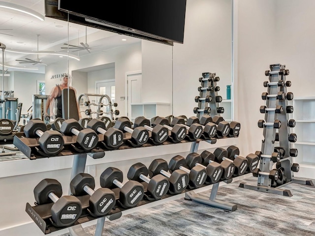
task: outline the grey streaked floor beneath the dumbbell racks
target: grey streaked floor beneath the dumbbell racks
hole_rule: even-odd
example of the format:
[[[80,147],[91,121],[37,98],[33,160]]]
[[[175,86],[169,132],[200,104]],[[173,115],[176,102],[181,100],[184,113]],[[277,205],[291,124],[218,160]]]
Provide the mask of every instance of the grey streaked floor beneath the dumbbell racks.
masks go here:
[[[256,186],[257,178],[220,186],[216,198],[236,204],[235,211],[179,199],[105,221],[103,236],[315,236],[314,186],[290,183],[283,189],[293,196],[285,197],[240,188],[240,182]],[[95,225],[85,231],[94,235]]]

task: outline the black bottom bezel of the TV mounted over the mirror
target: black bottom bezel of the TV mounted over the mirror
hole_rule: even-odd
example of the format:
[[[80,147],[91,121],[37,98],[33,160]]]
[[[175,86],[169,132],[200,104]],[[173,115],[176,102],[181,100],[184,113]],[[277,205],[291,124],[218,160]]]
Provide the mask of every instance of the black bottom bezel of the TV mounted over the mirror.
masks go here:
[[[138,37],[141,39],[155,41],[158,43],[163,43],[163,44],[167,44],[171,46],[174,45],[174,42],[183,44],[182,41],[161,37],[159,35],[151,34],[148,32],[141,31],[141,30],[137,30],[137,29],[130,29],[122,25],[113,24],[111,22],[103,21],[100,19],[96,19],[94,17],[90,17],[90,16],[83,15],[77,12],[69,11],[67,9],[63,9],[60,7],[60,0],[58,0],[58,11],[67,13],[69,15],[69,21],[73,23],[78,23],[78,24],[94,27],[97,29],[104,29],[107,31],[112,31],[119,34],[131,36],[131,37]],[[184,21],[185,21],[185,18],[184,18]],[[184,23],[184,27],[185,27],[185,23]],[[184,34],[184,29],[183,29],[183,34]]]

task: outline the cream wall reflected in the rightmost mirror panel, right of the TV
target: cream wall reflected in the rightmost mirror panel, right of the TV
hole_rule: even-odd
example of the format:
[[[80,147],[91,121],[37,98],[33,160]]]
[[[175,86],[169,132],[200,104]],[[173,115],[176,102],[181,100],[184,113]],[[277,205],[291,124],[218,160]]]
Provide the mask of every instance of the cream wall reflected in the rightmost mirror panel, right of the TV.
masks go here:
[[[232,1],[188,0],[184,44],[173,47],[173,114],[194,116],[203,72],[220,77],[219,95],[226,99],[232,81]],[[223,114],[224,117],[224,114]]]

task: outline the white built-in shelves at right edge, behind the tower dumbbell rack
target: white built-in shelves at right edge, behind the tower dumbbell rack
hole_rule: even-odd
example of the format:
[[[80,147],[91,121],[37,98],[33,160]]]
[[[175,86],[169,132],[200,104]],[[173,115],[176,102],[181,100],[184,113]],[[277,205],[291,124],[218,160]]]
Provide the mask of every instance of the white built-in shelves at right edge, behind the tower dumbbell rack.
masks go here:
[[[294,162],[300,166],[300,171],[295,176],[315,178],[315,96],[296,97],[293,99],[293,128],[298,139],[293,144],[298,149]]]

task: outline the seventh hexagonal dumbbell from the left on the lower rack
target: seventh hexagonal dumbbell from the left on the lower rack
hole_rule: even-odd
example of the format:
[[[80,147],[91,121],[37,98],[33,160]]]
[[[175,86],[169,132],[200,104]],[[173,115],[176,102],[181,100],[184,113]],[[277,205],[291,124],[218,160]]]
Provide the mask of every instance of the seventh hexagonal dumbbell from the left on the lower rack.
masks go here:
[[[190,169],[194,166],[201,166],[206,169],[207,178],[205,183],[213,184],[220,181],[223,169],[221,164],[214,161],[208,161],[208,163],[204,163],[200,154],[196,152],[191,152],[186,157],[186,163]]]

